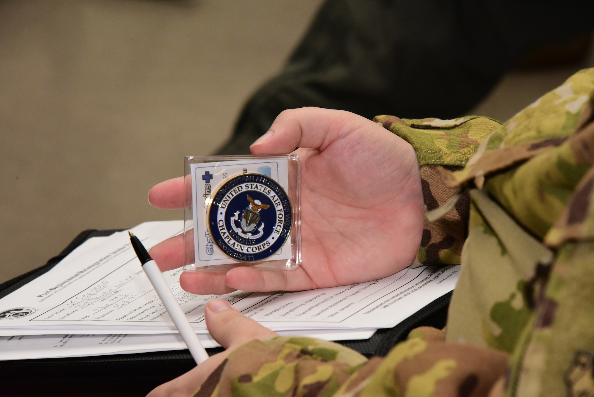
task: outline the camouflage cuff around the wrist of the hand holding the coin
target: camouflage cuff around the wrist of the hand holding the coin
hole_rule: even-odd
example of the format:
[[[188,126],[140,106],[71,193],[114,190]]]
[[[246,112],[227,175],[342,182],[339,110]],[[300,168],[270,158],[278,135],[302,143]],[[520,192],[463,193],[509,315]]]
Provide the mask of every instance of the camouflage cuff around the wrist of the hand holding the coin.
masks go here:
[[[421,167],[425,211],[442,206],[456,192],[456,188],[443,184],[438,166],[448,171],[462,169],[475,155],[481,142],[501,125],[494,119],[479,116],[452,120],[376,116],[374,121],[415,148]],[[421,247],[412,267],[460,264],[462,245],[468,231],[469,210],[470,198],[465,192],[453,210],[443,218],[435,222],[425,219]]]

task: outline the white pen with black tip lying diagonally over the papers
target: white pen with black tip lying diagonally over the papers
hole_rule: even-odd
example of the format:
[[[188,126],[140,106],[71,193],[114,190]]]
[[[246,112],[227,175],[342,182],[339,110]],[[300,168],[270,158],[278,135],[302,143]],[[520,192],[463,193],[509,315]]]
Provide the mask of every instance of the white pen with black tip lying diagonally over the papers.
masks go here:
[[[132,234],[132,232],[128,232],[128,234],[130,235],[132,248],[134,248],[134,252],[143,266],[144,273],[149,277],[154,290],[157,291],[157,295],[159,295],[163,305],[165,305],[169,317],[171,317],[173,324],[175,324],[179,331],[179,335],[184,339],[196,364],[202,363],[208,358],[208,353],[200,343],[200,339],[198,339],[198,335],[196,335],[192,325],[189,323],[188,317],[185,316],[184,311],[179,307],[178,301],[173,296],[173,292],[169,289],[169,285],[165,281],[165,278],[163,278],[159,266],[157,266],[157,263],[150,257],[146,248],[144,248],[143,243],[138,240],[138,237]]]

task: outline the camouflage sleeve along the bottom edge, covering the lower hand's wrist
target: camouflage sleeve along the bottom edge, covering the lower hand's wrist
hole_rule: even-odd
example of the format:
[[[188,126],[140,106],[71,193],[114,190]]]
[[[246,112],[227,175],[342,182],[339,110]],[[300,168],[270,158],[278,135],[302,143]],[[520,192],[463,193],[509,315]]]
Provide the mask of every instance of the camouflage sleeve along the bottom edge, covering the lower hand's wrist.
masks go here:
[[[235,349],[194,397],[397,397],[487,395],[507,354],[447,344],[443,331],[411,332],[386,358],[333,342],[277,337]]]

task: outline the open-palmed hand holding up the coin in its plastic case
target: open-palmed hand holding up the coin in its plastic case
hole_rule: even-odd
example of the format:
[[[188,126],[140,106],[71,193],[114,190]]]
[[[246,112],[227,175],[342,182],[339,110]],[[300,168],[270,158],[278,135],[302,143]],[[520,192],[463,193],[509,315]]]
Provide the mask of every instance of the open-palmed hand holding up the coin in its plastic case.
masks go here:
[[[299,149],[295,150],[296,147]],[[423,198],[415,150],[361,116],[318,108],[282,112],[251,146],[254,155],[301,157],[302,264],[296,270],[184,272],[194,294],[300,291],[371,281],[409,266],[421,242]],[[184,207],[184,178],[154,186],[159,208]],[[154,247],[162,270],[183,266],[182,236]]]

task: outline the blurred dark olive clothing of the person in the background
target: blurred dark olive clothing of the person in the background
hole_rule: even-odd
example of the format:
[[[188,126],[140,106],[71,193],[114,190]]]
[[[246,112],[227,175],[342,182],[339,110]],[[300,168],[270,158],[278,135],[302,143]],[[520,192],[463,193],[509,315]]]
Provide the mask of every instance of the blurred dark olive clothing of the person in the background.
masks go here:
[[[462,116],[533,49],[594,30],[592,15],[591,1],[328,0],[218,154],[249,153],[280,112],[303,106]]]

